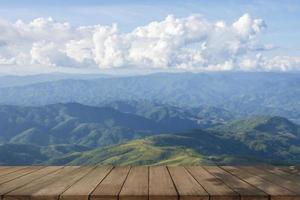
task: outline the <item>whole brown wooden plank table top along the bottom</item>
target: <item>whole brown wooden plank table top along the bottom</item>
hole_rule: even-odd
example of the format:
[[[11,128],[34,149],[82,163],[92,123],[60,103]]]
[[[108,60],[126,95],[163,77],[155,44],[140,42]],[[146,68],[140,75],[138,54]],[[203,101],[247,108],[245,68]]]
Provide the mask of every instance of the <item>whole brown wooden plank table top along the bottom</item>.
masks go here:
[[[300,167],[0,167],[1,199],[300,200]]]

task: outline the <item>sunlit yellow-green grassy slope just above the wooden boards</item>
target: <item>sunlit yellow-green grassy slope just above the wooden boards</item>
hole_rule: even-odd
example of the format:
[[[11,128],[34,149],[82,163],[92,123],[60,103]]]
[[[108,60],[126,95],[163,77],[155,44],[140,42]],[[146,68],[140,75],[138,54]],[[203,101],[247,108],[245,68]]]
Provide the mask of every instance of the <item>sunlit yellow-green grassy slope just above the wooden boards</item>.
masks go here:
[[[69,162],[70,161],[70,162]],[[155,146],[151,139],[133,140],[121,145],[99,148],[83,153],[73,153],[49,161],[51,164],[101,164],[101,165],[160,165],[202,164],[201,154],[178,146]]]

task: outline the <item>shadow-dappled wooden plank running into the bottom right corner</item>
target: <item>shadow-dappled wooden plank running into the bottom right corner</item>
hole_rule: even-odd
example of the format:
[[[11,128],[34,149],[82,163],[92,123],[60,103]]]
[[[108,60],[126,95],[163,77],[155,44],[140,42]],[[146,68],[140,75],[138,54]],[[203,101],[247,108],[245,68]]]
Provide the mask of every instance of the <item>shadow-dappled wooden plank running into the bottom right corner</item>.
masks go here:
[[[276,185],[272,182],[269,182],[265,179],[258,177],[257,175],[253,175],[248,173],[246,170],[242,170],[238,167],[224,166],[222,167],[224,170],[229,173],[243,179],[245,182],[254,185],[265,193],[269,194],[271,199],[285,199],[285,200],[296,200],[300,199],[294,192],[291,192],[279,185]]]

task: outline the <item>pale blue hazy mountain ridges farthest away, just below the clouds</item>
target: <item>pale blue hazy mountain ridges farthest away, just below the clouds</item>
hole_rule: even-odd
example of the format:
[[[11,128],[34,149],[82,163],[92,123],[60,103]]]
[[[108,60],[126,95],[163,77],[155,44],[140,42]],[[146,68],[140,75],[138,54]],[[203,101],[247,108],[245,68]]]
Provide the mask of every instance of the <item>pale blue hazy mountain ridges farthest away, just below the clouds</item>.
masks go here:
[[[213,106],[241,116],[279,115],[300,122],[299,85],[300,73],[159,73],[2,88],[0,103],[78,102],[98,106],[146,100],[177,107]]]

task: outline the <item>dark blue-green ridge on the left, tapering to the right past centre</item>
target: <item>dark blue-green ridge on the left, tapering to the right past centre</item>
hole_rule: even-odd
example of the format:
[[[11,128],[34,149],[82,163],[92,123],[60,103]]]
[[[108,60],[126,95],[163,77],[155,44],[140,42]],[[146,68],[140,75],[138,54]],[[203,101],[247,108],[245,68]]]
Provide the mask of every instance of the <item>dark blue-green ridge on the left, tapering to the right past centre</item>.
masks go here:
[[[191,127],[171,125],[109,107],[77,103],[40,107],[0,106],[0,144],[99,147],[162,132],[195,128],[194,124]]]

